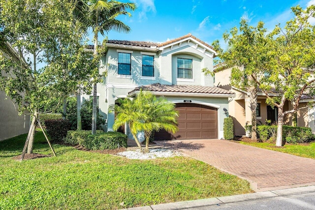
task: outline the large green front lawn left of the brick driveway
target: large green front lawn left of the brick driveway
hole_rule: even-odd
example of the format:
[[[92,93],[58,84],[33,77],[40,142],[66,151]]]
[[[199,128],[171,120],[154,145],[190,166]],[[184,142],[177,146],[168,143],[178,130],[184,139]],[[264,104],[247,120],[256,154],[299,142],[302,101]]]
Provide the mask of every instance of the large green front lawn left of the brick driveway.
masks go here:
[[[53,145],[57,157],[19,162],[26,135],[0,142],[0,209],[123,209],[252,192],[188,157],[130,160]],[[42,132],[34,153],[51,154]]]

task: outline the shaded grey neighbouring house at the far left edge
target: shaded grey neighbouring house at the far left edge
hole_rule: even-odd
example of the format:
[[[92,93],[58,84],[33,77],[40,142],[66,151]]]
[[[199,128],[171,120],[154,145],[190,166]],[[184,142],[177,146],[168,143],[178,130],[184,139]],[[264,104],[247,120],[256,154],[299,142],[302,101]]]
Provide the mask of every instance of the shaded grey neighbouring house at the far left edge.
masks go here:
[[[1,43],[0,50],[12,60],[20,62],[17,52],[9,43]],[[30,115],[19,116],[11,99],[0,90],[0,141],[27,133],[29,128]]]

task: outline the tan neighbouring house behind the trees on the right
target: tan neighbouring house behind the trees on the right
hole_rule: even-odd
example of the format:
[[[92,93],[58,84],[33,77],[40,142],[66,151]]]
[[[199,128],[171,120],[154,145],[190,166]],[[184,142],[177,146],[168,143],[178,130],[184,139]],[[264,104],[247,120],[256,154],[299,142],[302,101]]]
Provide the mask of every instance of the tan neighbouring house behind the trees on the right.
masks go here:
[[[218,64],[217,66],[219,66]],[[215,66],[215,69],[216,67]],[[235,93],[235,97],[229,101],[228,114],[233,119],[234,123],[234,135],[245,135],[245,125],[252,124],[252,112],[250,109],[250,100],[248,93],[244,90],[237,89],[230,84],[230,75],[232,68],[222,68],[221,70],[215,70],[215,83],[216,87],[229,90]],[[275,91],[275,95],[277,92]],[[307,103],[313,101],[311,97],[302,95],[299,108],[306,107]],[[284,111],[291,110],[291,103],[285,102]],[[277,124],[278,121],[278,109],[266,104],[266,95],[262,91],[257,94],[257,108],[256,108],[256,120],[257,124],[266,124],[266,120],[270,120],[271,123]],[[297,126],[310,127],[313,133],[315,133],[315,108],[305,108],[297,112],[296,123]],[[288,115],[284,119],[284,124],[292,124],[292,115]]]

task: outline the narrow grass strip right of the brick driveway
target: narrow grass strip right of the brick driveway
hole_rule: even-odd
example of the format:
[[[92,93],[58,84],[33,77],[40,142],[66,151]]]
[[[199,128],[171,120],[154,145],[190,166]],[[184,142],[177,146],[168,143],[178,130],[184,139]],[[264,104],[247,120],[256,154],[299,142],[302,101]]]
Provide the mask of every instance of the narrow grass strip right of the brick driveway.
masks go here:
[[[301,157],[308,157],[315,159],[315,142],[310,145],[284,145],[284,148],[276,148],[275,144],[263,142],[240,142],[244,145],[250,145],[267,150],[281,151],[288,154],[293,154]]]

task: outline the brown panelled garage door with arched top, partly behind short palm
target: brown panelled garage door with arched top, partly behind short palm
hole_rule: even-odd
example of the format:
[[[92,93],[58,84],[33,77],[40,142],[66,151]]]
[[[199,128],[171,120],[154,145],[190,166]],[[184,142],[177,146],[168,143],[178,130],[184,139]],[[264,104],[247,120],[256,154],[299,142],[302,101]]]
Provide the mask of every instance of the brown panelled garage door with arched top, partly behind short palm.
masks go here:
[[[156,133],[156,140],[173,139],[217,139],[218,111],[216,108],[191,103],[178,103],[178,128],[175,134],[161,130]]]

